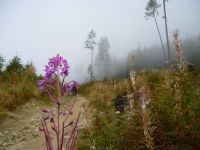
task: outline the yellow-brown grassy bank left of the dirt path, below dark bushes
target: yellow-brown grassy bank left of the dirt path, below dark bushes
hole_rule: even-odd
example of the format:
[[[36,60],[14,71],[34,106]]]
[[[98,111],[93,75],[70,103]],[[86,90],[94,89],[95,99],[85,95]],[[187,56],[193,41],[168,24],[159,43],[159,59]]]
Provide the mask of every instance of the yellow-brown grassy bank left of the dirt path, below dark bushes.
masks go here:
[[[9,76],[8,76],[9,77]],[[0,120],[9,117],[9,111],[15,110],[19,105],[28,102],[35,97],[41,99],[44,95],[38,88],[37,77],[24,75],[23,78],[11,78],[0,76]]]

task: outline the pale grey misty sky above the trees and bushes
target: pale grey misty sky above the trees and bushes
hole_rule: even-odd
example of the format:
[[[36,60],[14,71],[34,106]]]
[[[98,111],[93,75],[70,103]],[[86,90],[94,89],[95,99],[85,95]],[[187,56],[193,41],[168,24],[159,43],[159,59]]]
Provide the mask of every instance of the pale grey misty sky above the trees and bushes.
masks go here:
[[[148,0],[0,0],[0,54],[32,61],[43,74],[48,58],[57,53],[68,59],[71,77],[85,80],[90,53],[84,42],[91,29],[110,41],[110,53],[125,57],[141,46],[159,44],[153,19],[144,18]],[[162,0],[158,0],[162,2]],[[163,37],[164,20],[159,9]],[[175,29],[183,38],[200,33],[200,0],[169,0],[170,40]],[[165,41],[165,39],[163,39]]]

